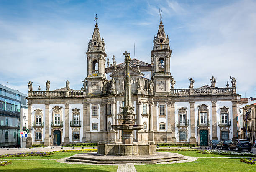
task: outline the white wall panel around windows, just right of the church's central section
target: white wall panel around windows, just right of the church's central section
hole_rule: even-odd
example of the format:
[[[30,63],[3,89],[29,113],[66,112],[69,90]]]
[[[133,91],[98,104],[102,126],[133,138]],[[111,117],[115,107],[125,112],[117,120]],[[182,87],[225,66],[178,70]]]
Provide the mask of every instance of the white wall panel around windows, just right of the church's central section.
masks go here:
[[[191,137],[191,130],[190,130],[190,103],[189,102],[176,102],[174,104],[174,111],[175,111],[175,137],[176,137],[176,142],[179,142],[179,129],[181,129],[182,127],[177,127],[177,121],[179,121],[179,109],[180,108],[187,108],[186,112],[187,112],[187,116],[186,116],[186,120],[189,120],[189,126],[188,127],[184,127],[185,129],[187,128],[187,140],[190,140]],[[194,122],[194,121],[192,121]],[[180,141],[180,142],[187,142],[187,141]]]

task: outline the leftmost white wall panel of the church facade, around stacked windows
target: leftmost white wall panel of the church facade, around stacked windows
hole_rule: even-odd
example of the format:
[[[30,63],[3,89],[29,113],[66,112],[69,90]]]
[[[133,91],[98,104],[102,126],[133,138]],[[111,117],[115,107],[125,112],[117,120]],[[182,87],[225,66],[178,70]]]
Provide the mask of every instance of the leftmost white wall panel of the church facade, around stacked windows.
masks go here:
[[[35,121],[35,110],[40,109],[42,110],[42,121],[44,122],[44,127],[43,127],[43,132],[42,132],[42,141],[36,141],[36,142],[44,142],[45,138],[45,104],[32,104],[31,105],[31,125],[33,126],[33,122]],[[31,137],[32,137],[32,142],[35,142],[35,129],[31,131]]]

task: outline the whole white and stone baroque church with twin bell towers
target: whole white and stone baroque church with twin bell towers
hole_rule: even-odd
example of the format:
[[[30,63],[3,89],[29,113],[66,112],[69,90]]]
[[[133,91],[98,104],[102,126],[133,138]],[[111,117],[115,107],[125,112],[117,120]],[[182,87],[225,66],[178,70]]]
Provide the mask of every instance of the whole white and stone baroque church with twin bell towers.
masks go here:
[[[207,145],[211,139],[237,139],[236,79],[232,86],[193,88],[189,78],[186,89],[174,88],[170,73],[172,50],[169,38],[160,21],[153,40],[151,64],[132,59],[130,63],[131,93],[137,125],[143,129],[133,131],[134,142],[195,143]],[[87,76],[81,90],[66,87],[46,91],[33,91],[28,83],[27,146],[31,144],[66,145],[67,143],[122,142],[122,131],[111,125],[121,124],[124,105],[125,63],[117,64],[113,56],[110,63],[105,43],[96,23],[88,43]],[[107,58],[107,59],[106,59]],[[150,72],[151,79],[143,77]],[[110,80],[107,79],[110,76]]]

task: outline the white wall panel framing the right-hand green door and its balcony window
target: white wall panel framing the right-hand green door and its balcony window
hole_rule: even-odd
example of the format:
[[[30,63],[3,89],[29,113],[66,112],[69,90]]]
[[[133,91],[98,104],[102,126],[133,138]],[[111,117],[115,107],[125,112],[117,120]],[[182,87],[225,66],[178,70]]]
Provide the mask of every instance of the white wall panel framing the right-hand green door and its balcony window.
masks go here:
[[[195,137],[196,137],[196,142],[198,142],[198,133],[197,133],[197,120],[198,120],[198,109],[200,105],[205,104],[206,106],[208,106],[208,119],[211,120],[210,121],[210,134],[209,138],[210,140],[212,139],[212,102],[211,101],[196,101],[195,102]]]

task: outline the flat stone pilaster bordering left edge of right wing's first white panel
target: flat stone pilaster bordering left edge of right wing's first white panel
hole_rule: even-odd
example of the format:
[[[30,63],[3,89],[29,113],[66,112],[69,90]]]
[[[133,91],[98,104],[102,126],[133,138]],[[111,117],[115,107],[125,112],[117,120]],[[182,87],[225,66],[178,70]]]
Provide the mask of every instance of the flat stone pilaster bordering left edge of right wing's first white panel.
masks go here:
[[[174,102],[167,102],[167,143],[176,142],[174,115]]]

